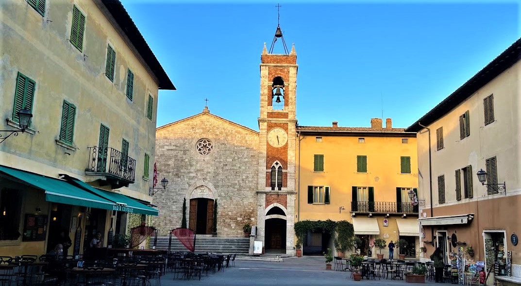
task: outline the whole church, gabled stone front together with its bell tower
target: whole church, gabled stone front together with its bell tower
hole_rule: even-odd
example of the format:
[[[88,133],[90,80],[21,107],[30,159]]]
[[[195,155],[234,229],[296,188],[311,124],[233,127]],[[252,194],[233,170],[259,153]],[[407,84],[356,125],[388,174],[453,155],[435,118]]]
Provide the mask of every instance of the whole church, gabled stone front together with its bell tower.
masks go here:
[[[256,241],[279,253],[294,254],[295,97],[294,47],[289,54],[261,55],[259,131],[210,114],[194,115],[157,128],[156,159],[166,191],[154,195],[162,231],[181,226],[183,198],[187,225],[197,235],[242,237],[243,225],[256,226]]]

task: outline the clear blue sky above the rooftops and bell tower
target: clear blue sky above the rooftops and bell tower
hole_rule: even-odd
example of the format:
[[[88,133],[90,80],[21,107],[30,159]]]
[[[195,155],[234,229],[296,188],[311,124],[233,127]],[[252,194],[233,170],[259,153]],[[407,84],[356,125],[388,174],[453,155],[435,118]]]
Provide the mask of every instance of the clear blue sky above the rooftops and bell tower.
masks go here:
[[[519,38],[516,2],[317,2],[280,2],[301,126],[368,127],[383,99],[383,117],[408,127]],[[207,97],[210,113],[258,130],[277,1],[122,3],[177,88],[159,92],[158,126]]]

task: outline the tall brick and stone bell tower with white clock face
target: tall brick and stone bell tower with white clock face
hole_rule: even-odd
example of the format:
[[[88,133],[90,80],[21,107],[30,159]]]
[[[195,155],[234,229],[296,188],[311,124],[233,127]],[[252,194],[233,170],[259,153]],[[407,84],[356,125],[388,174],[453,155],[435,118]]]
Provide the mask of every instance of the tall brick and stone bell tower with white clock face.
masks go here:
[[[284,54],[273,54],[276,42]],[[288,52],[280,25],[269,52],[261,55],[261,114],[259,124],[259,178],[257,241],[272,253],[295,254],[295,46]]]

